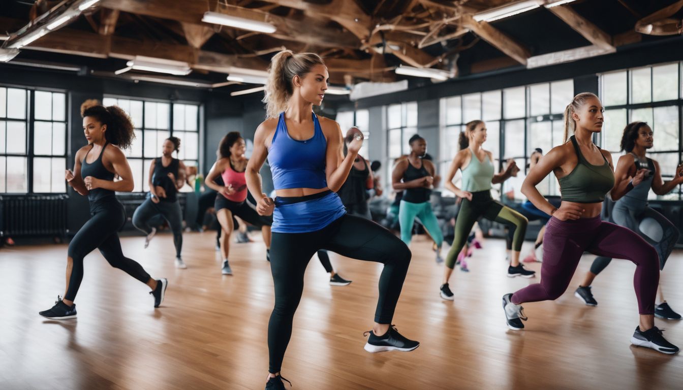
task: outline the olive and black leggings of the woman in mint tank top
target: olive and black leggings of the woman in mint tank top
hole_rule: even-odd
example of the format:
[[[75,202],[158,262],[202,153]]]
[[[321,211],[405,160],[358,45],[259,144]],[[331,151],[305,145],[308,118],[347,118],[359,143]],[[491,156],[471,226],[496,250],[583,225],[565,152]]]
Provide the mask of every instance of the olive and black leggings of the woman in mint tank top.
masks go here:
[[[529,221],[522,214],[503,206],[498,201],[494,201],[489,190],[477,191],[472,193],[472,200],[462,199],[458,218],[456,219],[456,232],[453,245],[446,257],[446,266],[453,268],[456,265],[458,253],[464,247],[467,236],[472,230],[477,219],[484,217],[490,221],[503,223],[510,229],[514,229],[512,237],[512,250],[518,252],[522,250],[522,242],[527,233],[527,223]]]

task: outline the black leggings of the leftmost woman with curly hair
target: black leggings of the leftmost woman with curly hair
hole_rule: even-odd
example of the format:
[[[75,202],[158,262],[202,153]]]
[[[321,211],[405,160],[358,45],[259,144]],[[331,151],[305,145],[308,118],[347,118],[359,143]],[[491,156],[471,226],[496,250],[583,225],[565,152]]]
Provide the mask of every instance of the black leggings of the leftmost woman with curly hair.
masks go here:
[[[126,271],[128,275],[147,283],[150,274],[146,273],[140,264],[124,256],[118,229],[126,222],[124,206],[118,201],[107,201],[92,209],[90,218],[69,244],[68,255],[72,259],[69,287],[64,299],[73,301],[81,287],[83,280],[83,257],[88,253],[100,249],[100,253],[114,268]]]

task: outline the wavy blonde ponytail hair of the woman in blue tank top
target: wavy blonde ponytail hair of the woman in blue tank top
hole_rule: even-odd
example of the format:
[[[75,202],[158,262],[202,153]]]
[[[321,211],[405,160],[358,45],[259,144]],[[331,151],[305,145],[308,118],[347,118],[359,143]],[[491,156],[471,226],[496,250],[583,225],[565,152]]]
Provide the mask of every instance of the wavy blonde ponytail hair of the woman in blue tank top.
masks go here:
[[[268,68],[266,94],[266,118],[277,117],[287,109],[288,100],[294,93],[292,79],[303,78],[316,65],[324,65],[322,58],[314,53],[294,54],[291,50],[283,50],[273,56]]]

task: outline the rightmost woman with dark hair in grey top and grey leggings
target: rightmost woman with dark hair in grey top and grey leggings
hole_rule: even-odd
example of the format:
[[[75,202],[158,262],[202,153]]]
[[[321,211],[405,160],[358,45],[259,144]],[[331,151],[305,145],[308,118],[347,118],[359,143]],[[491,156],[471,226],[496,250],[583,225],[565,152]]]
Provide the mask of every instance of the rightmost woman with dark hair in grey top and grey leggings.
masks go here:
[[[627,153],[619,157],[619,161],[617,161],[615,169],[617,186],[628,186],[630,178],[637,176],[641,169],[645,169],[645,178],[623,197],[613,199],[616,203],[612,209],[611,216],[617,225],[628,227],[628,229],[636,232],[656,249],[659,257],[659,269],[663,270],[664,264],[671,251],[673,251],[680,233],[671,221],[647,206],[647,194],[652,189],[657,195],[665,195],[674,189],[675,186],[682,184],[683,168],[676,169],[673,179],[664,182],[659,169],[659,163],[645,156],[647,149],[653,146],[652,128],[647,126],[645,122],[633,122],[624,128],[621,151],[626,150]],[[591,292],[591,283],[611,261],[612,257],[596,257],[583,283],[574,292],[574,295],[580,298],[586,305],[598,305]],[[654,308],[654,315],[667,320],[680,320],[680,314],[669,307],[669,304],[664,299],[662,290],[662,281],[660,279],[658,294],[660,304]]]

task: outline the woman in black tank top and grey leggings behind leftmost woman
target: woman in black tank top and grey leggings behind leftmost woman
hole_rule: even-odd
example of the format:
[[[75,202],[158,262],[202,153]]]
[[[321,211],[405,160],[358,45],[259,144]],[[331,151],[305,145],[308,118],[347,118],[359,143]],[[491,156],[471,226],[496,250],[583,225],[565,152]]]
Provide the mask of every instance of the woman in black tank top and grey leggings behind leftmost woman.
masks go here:
[[[173,232],[173,245],[176,247],[176,268],[187,268],[180,257],[182,250],[182,210],[178,201],[178,190],[185,184],[185,165],[173,152],[180,152],[180,138],[168,137],[161,145],[161,157],[154,158],[150,164],[150,193],[148,198],[133,213],[133,226],[143,232],[145,248],[156,234],[156,227],[148,221],[161,214]]]

